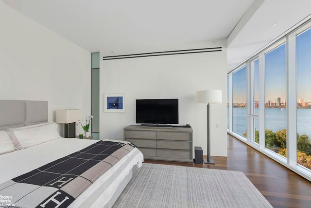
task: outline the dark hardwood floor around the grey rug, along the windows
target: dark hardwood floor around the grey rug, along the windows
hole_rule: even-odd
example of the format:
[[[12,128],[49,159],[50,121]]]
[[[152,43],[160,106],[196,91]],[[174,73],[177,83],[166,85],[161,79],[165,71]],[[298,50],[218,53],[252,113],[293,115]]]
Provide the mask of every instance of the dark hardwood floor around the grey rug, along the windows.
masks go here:
[[[311,182],[228,134],[228,157],[215,165],[145,160],[145,163],[242,171],[274,208],[311,208]]]

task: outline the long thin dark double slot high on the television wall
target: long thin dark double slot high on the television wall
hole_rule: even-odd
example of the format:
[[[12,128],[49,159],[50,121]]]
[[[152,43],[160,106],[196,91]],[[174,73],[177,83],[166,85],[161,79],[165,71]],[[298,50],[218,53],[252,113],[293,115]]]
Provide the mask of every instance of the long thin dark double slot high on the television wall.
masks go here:
[[[103,57],[103,60],[138,58],[138,57],[156,57],[156,56],[168,56],[168,55],[178,55],[178,54],[197,54],[197,53],[218,52],[218,51],[222,51],[222,47],[197,48],[197,49],[178,50],[178,51],[162,51],[162,52],[143,53],[143,54],[109,56],[109,57]]]

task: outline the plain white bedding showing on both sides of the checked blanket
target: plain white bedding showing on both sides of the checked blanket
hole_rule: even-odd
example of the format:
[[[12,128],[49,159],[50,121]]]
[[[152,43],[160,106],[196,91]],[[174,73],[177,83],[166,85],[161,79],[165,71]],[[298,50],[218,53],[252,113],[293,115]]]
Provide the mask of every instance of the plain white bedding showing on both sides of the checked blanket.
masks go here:
[[[0,155],[0,183],[34,170],[70,153],[79,151],[97,141],[59,138],[30,148],[2,154]],[[118,142],[123,141],[118,140]],[[134,149],[98,178],[69,207],[104,207],[124,177],[132,170],[132,167],[134,165],[140,166],[142,162],[142,153],[138,149]],[[103,193],[105,197],[103,197]]]

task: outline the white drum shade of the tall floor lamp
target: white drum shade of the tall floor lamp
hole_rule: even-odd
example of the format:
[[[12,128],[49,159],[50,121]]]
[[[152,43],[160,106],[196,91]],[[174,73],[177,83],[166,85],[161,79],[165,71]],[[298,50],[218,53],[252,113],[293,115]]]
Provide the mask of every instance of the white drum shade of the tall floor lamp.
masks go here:
[[[201,90],[196,92],[197,103],[222,103],[221,90]]]

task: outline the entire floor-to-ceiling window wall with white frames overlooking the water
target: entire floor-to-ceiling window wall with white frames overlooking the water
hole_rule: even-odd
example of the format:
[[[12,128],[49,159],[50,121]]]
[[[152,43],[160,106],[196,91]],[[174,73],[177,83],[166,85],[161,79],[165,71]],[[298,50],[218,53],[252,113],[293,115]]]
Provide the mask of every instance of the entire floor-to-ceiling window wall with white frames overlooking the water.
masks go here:
[[[227,73],[228,132],[310,180],[311,19],[241,64]]]

